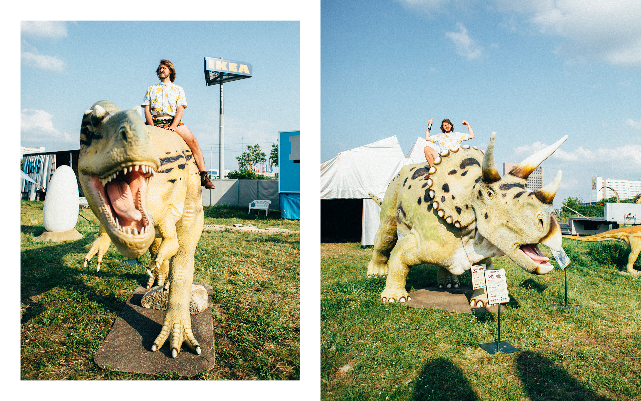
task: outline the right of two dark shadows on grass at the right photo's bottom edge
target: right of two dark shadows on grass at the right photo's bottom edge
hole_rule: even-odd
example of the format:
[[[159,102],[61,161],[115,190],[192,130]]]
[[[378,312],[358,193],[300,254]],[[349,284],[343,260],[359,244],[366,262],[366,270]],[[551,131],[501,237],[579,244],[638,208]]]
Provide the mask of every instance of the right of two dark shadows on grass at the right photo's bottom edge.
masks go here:
[[[530,400],[611,400],[585,388],[563,368],[538,352],[521,352],[516,358],[516,366]]]

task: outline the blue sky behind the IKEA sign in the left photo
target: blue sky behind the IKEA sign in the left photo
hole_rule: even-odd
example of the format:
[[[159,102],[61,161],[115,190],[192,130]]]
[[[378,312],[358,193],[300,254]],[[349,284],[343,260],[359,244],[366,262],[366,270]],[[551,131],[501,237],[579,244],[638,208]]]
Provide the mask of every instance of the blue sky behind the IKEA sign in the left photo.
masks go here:
[[[179,42],[165,42],[162,26]],[[299,21],[23,21],[21,146],[78,149],[83,111],[104,99],[140,105],[166,58],[185,89],[183,123],[217,169],[219,86],[205,85],[204,56],[253,64],[251,78],[224,84],[227,169],[247,144],[269,155],[279,131],[300,128]]]

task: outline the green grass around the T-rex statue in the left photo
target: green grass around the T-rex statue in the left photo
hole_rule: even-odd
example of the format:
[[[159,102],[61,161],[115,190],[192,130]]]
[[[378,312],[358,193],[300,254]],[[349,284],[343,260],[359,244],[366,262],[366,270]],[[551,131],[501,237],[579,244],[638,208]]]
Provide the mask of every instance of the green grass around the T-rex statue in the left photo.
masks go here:
[[[80,210],[78,241],[37,243],[43,202],[21,205],[21,378],[24,380],[180,379],[105,371],[93,361],[126,299],[146,285],[144,267],[122,265],[112,245],[99,273],[83,259],[98,232]],[[206,207],[205,224],[253,224],[300,230],[300,222],[249,216],[238,207]],[[193,379],[297,380],[300,359],[300,235],[205,231],[196,249],[194,281],[213,286],[216,366]],[[188,352],[183,348],[183,352]]]

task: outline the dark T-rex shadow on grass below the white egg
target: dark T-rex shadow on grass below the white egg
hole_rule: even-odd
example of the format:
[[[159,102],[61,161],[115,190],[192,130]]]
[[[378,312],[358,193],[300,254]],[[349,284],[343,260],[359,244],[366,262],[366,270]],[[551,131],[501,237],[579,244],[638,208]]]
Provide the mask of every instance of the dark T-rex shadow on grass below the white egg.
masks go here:
[[[96,293],[96,289],[85,284],[80,278],[80,275],[99,276],[101,280],[110,280],[112,278],[130,279],[146,284],[147,275],[144,271],[140,274],[119,272],[107,273],[102,269],[99,273],[96,272],[96,257],[92,259],[93,264],[88,264],[87,268],[83,268],[81,263],[77,268],[65,265],[64,257],[69,253],[87,252],[85,246],[94,241],[95,235],[85,235],[78,241],[69,241],[67,243],[60,243],[51,246],[43,246],[31,250],[24,250],[21,252],[21,299],[27,305],[27,308],[22,313],[21,324],[27,323],[29,320],[41,314],[45,305],[40,302],[33,302],[29,297],[39,296],[40,294],[47,293],[54,287],[64,287],[67,291],[78,291],[85,294],[88,300],[103,305],[105,311],[119,314],[124,307],[124,302],[116,296],[109,294],[103,295]],[[103,260],[106,262],[107,260]]]

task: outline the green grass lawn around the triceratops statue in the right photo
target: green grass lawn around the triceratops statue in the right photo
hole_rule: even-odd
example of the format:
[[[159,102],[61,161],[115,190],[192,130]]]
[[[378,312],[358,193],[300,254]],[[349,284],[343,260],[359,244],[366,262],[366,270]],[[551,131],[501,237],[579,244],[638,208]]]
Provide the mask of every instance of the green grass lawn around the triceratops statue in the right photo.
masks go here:
[[[563,240],[578,311],[548,307],[564,301],[556,262],[534,276],[494,258],[512,299],[501,307],[501,339],[520,350],[497,355],[479,347],[496,341],[496,314],[383,305],[385,278],[366,275],[371,248],[321,244],[322,399],[641,400],[641,279],[619,274],[626,248],[597,244]],[[436,273],[412,268],[406,289],[436,284]]]

